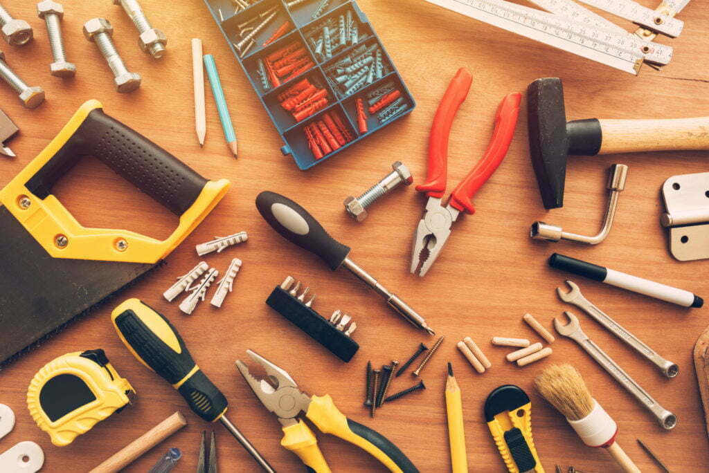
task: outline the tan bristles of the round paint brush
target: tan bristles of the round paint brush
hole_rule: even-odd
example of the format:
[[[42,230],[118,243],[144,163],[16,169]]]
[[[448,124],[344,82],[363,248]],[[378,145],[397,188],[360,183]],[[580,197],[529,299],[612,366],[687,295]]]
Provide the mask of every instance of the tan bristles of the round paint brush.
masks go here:
[[[593,397],[584,378],[569,364],[548,367],[535,377],[534,384],[537,391],[571,421],[578,421],[593,410]]]

